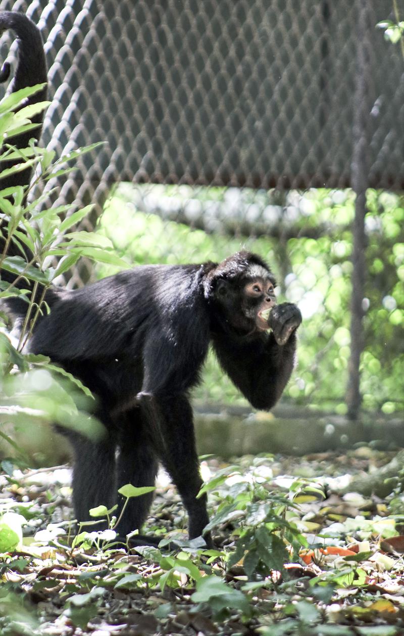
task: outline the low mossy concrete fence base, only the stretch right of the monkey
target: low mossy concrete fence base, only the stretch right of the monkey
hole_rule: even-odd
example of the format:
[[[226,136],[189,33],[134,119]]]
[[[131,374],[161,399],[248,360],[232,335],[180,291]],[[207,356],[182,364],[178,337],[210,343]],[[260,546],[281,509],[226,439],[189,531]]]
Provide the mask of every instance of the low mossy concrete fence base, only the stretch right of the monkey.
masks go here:
[[[365,415],[358,424],[338,415],[279,407],[274,413],[196,413],[195,424],[198,452],[224,458],[258,453],[306,455],[351,448],[360,442],[382,449],[404,446],[404,422],[398,417]]]

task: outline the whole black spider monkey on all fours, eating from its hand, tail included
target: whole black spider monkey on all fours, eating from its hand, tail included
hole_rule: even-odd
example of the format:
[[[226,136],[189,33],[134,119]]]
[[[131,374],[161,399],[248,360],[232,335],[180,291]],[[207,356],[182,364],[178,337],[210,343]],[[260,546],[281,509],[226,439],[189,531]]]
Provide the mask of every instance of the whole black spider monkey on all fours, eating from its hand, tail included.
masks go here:
[[[20,39],[15,88],[44,81],[36,27],[22,14],[5,12],[1,28],[14,29]],[[20,147],[26,144],[25,137]],[[24,174],[27,184],[29,171]],[[90,387],[106,431],[98,441],[66,433],[74,452],[77,520],[88,520],[98,504],[111,507],[126,483],[154,485],[160,460],[187,509],[189,536],[203,534],[208,515],[206,495],[196,498],[201,477],[189,391],[199,382],[212,342],[223,370],[250,404],[274,406],[292,373],[301,322],[295,305],[276,305],[275,285],[265,261],[243,251],[222,263],[138,266],[83,289],[48,291],[51,311],[37,322],[30,350],[50,356]],[[8,302],[17,317],[25,306],[17,298]],[[121,536],[142,527],[151,501],[151,494],[130,500]],[[208,534],[205,539],[210,544]],[[142,543],[155,541],[135,539]]]

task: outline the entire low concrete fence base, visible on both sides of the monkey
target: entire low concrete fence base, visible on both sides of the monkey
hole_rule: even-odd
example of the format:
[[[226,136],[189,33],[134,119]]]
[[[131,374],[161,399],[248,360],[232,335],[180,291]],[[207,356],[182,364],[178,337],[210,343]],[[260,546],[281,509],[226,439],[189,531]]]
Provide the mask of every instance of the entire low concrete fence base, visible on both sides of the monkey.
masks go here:
[[[404,446],[404,422],[400,417],[368,414],[358,424],[339,415],[285,404],[273,413],[196,404],[195,429],[199,455],[212,453],[224,459],[259,453],[299,456],[352,448],[360,442],[372,442],[380,449]],[[4,427],[3,432],[16,442],[31,466],[57,466],[69,459],[69,443],[50,425],[19,424],[18,429]],[[0,439],[0,459],[15,455],[13,448]]]

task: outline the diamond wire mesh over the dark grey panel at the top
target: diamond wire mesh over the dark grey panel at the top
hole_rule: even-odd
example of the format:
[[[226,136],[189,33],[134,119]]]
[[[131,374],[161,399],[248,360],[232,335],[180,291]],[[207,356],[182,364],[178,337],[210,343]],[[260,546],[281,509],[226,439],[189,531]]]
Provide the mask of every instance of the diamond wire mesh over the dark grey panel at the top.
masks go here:
[[[43,31],[53,97],[44,143],[61,153],[106,142],[80,160],[58,203],[102,203],[119,180],[349,186],[358,44],[351,0],[0,6],[26,11]],[[375,25],[391,1],[370,11]],[[373,27],[369,38],[368,186],[404,188],[400,50]],[[5,34],[3,59],[10,41]]]

